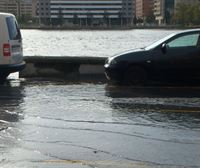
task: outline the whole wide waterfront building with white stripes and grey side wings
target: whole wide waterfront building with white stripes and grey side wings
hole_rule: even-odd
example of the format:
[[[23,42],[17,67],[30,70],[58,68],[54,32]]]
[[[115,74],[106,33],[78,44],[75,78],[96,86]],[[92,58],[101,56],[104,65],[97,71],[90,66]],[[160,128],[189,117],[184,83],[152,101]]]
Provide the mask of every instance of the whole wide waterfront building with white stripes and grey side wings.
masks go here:
[[[93,21],[94,24],[131,24],[135,16],[135,0],[37,0],[37,15],[42,22],[70,24]]]

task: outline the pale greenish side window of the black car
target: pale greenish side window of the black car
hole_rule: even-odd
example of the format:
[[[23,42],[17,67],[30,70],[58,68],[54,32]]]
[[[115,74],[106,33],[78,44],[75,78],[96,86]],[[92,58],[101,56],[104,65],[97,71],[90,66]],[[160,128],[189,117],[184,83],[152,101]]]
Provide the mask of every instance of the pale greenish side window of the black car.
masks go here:
[[[178,37],[172,41],[170,41],[167,45],[169,48],[177,48],[177,47],[197,47],[199,39],[199,34],[189,34]]]

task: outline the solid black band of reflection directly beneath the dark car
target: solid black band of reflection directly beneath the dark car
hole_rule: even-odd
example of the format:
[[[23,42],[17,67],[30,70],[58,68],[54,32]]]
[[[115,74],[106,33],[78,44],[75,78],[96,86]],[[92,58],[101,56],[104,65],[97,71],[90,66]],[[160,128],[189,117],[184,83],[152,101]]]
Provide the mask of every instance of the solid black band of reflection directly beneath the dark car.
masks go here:
[[[158,87],[127,87],[106,85],[106,96],[120,97],[152,97],[152,98],[200,98],[200,87],[158,86]]]

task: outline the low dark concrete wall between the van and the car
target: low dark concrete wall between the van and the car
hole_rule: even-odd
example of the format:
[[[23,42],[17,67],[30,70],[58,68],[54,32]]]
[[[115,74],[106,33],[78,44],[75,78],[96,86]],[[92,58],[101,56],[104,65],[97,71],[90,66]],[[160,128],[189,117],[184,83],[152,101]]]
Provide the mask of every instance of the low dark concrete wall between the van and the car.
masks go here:
[[[20,77],[61,77],[68,79],[104,77],[106,57],[26,56]]]

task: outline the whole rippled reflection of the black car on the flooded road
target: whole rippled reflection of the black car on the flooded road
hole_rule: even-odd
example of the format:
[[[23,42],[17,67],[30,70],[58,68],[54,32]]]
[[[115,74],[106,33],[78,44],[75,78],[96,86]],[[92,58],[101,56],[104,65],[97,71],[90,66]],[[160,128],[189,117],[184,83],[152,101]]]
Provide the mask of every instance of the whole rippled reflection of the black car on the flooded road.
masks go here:
[[[105,87],[113,118],[153,127],[200,129],[199,87]]]

